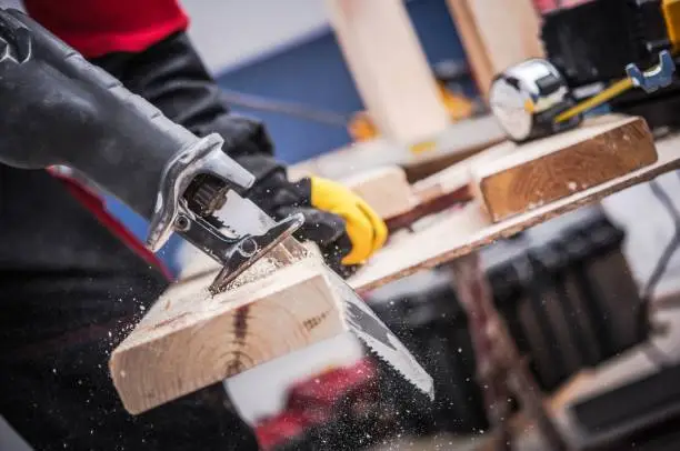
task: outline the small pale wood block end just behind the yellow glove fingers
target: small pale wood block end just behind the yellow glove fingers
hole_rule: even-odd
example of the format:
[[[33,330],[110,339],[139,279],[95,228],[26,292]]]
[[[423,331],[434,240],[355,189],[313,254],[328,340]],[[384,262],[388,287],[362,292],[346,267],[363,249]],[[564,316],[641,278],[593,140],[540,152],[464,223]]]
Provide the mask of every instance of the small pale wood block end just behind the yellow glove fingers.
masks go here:
[[[340,180],[382,219],[410,211],[418,203],[406,172],[399,167],[378,168]]]

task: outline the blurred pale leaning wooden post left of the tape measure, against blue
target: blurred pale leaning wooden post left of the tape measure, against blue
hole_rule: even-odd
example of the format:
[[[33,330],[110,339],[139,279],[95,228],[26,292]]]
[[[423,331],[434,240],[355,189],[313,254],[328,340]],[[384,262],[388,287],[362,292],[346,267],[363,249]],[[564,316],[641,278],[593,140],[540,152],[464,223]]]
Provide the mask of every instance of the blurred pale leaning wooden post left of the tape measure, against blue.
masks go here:
[[[357,89],[381,134],[431,140],[450,123],[402,0],[327,0]]]

